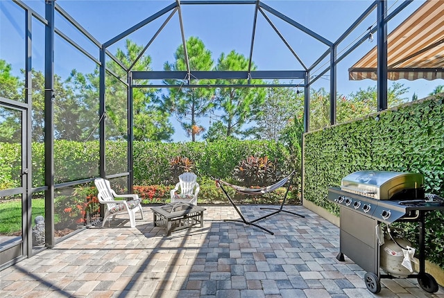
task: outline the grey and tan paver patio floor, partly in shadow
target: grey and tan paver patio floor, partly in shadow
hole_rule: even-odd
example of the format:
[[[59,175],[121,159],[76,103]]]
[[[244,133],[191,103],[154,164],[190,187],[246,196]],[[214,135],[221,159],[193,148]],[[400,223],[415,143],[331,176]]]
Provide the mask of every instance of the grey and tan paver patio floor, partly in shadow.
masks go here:
[[[365,272],[336,260],[339,228],[302,206],[285,207],[305,218],[279,213],[252,226],[230,206],[204,206],[205,225],[175,231],[145,220],[129,227],[124,216],[91,228],[0,272],[0,297],[444,297],[429,294],[416,279],[382,279],[367,290]],[[257,218],[269,211],[242,206]]]

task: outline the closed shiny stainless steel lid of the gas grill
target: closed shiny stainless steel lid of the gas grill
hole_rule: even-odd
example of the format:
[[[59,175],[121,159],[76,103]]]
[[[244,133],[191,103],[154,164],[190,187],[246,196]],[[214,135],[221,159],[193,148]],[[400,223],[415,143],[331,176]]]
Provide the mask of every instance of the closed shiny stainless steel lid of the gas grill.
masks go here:
[[[390,200],[393,195],[407,189],[420,189],[424,177],[420,173],[359,170],[344,177],[341,189],[377,200]]]

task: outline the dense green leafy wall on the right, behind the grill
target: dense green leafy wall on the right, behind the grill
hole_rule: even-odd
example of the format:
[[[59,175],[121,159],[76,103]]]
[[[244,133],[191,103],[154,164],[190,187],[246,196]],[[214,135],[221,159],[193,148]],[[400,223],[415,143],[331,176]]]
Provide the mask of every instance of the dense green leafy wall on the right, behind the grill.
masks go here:
[[[444,99],[425,98],[305,134],[303,150],[305,200],[336,215],[339,207],[326,199],[328,187],[340,186],[357,170],[422,173],[426,193],[444,197]],[[429,213],[426,243],[430,261],[444,268],[443,222],[443,213]],[[415,225],[404,229],[417,241]]]

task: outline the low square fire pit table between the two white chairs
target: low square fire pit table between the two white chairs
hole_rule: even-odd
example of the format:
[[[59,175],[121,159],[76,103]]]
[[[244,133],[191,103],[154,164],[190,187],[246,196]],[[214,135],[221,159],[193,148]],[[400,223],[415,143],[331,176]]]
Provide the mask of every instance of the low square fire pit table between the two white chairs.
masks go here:
[[[203,211],[206,209],[194,204],[170,203],[160,207],[151,207],[154,227],[163,227],[167,236],[172,231],[187,229],[200,223],[203,227]]]

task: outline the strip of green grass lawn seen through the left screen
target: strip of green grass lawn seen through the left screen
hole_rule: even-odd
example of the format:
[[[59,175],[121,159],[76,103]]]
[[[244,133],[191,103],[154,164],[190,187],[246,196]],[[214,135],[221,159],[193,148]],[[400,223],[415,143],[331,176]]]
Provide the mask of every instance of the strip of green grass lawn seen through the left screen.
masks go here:
[[[33,199],[33,220],[36,216],[44,216],[44,199]],[[22,201],[11,200],[0,203],[0,234],[10,235],[22,231]]]

